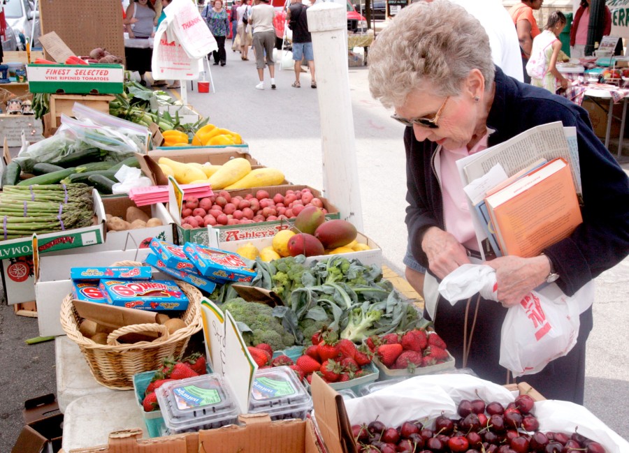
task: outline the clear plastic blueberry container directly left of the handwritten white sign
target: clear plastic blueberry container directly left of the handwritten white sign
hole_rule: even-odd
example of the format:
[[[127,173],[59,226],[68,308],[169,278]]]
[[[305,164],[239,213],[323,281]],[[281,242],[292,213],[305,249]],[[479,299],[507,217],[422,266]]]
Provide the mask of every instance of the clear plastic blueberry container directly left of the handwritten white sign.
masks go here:
[[[155,391],[167,434],[214,429],[238,422],[229,387],[216,373],[166,383]]]

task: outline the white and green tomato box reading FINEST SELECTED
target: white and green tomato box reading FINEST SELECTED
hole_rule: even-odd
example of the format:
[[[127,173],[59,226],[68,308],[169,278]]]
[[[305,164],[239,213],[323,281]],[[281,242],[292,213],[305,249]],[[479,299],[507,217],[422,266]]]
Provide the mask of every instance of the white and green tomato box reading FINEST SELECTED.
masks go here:
[[[124,69],[120,64],[29,64],[31,93],[122,93]]]

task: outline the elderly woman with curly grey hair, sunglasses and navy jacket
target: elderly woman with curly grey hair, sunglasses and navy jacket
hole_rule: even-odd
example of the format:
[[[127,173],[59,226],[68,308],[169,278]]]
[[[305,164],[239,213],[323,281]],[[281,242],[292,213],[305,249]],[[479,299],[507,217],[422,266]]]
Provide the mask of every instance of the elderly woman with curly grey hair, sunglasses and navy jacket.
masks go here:
[[[625,258],[629,251],[629,183],[626,174],[594,135],[588,114],[565,98],[507,77],[491,61],[481,24],[447,0],[414,3],[396,15],[369,51],[371,94],[393,107],[407,158],[406,223],[414,258],[443,279],[478,255],[475,230],[456,171],[458,158],[504,142],[540,124],[562,121],[577,129],[584,222],[567,239],[533,258],[505,256],[496,269],[501,304],[480,299],[466,310],[431,299],[428,315],[461,364],[481,378],[505,383],[499,366],[500,327],[506,308],[546,281],[573,295],[585,283]],[[428,276],[427,276],[428,280]],[[476,299],[476,298],[474,298]],[[470,307],[468,307],[470,308]],[[473,315],[472,313],[475,313]],[[550,399],[582,403],[585,342],[591,308],[581,314],[579,342],[526,381]],[[467,332],[465,332],[467,329]]]

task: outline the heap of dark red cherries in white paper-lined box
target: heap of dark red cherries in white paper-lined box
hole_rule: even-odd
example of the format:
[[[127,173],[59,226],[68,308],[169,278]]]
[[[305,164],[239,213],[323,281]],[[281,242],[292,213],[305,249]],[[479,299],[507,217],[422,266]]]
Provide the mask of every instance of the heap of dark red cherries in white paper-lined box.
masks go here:
[[[419,420],[408,420],[398,427],[374,420],[352,425],[352,434],[358,451],[365,453],[605,453],[600,443],[578,430],[543,433],[536,427],[529,429],[522,420],[533,420],[533,426],[539,423],[535,415],[519,407],[532,410],[533,404],[526,394],[517,396],[507,408],[496,401],[463,399],[458,403],[458,417],[440,415],[433,427]]]

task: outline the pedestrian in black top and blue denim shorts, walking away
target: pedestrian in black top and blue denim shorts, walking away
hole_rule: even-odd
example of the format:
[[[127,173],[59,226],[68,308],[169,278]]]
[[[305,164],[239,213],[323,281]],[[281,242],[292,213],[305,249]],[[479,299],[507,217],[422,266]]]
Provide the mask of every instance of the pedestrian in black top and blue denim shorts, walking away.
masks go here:
[[[308,17],[306,16],[306,10],[308,6],[305,6],[301,0],[291,0],[291,6],[289,6],[286,12],[286,20],[289,24],[289,29],[293,31],[293,59],[295,61],[295,82],[291,85],[295,88],[300,88],[299,73],[301,73],[301,61],[305,59],[308,61],[308,68],[310,68],[310,82],[311,88],[317,88],[317,80],[315,79],[315,56],[312,52],[312,37],[310,31],[308,31]]]

